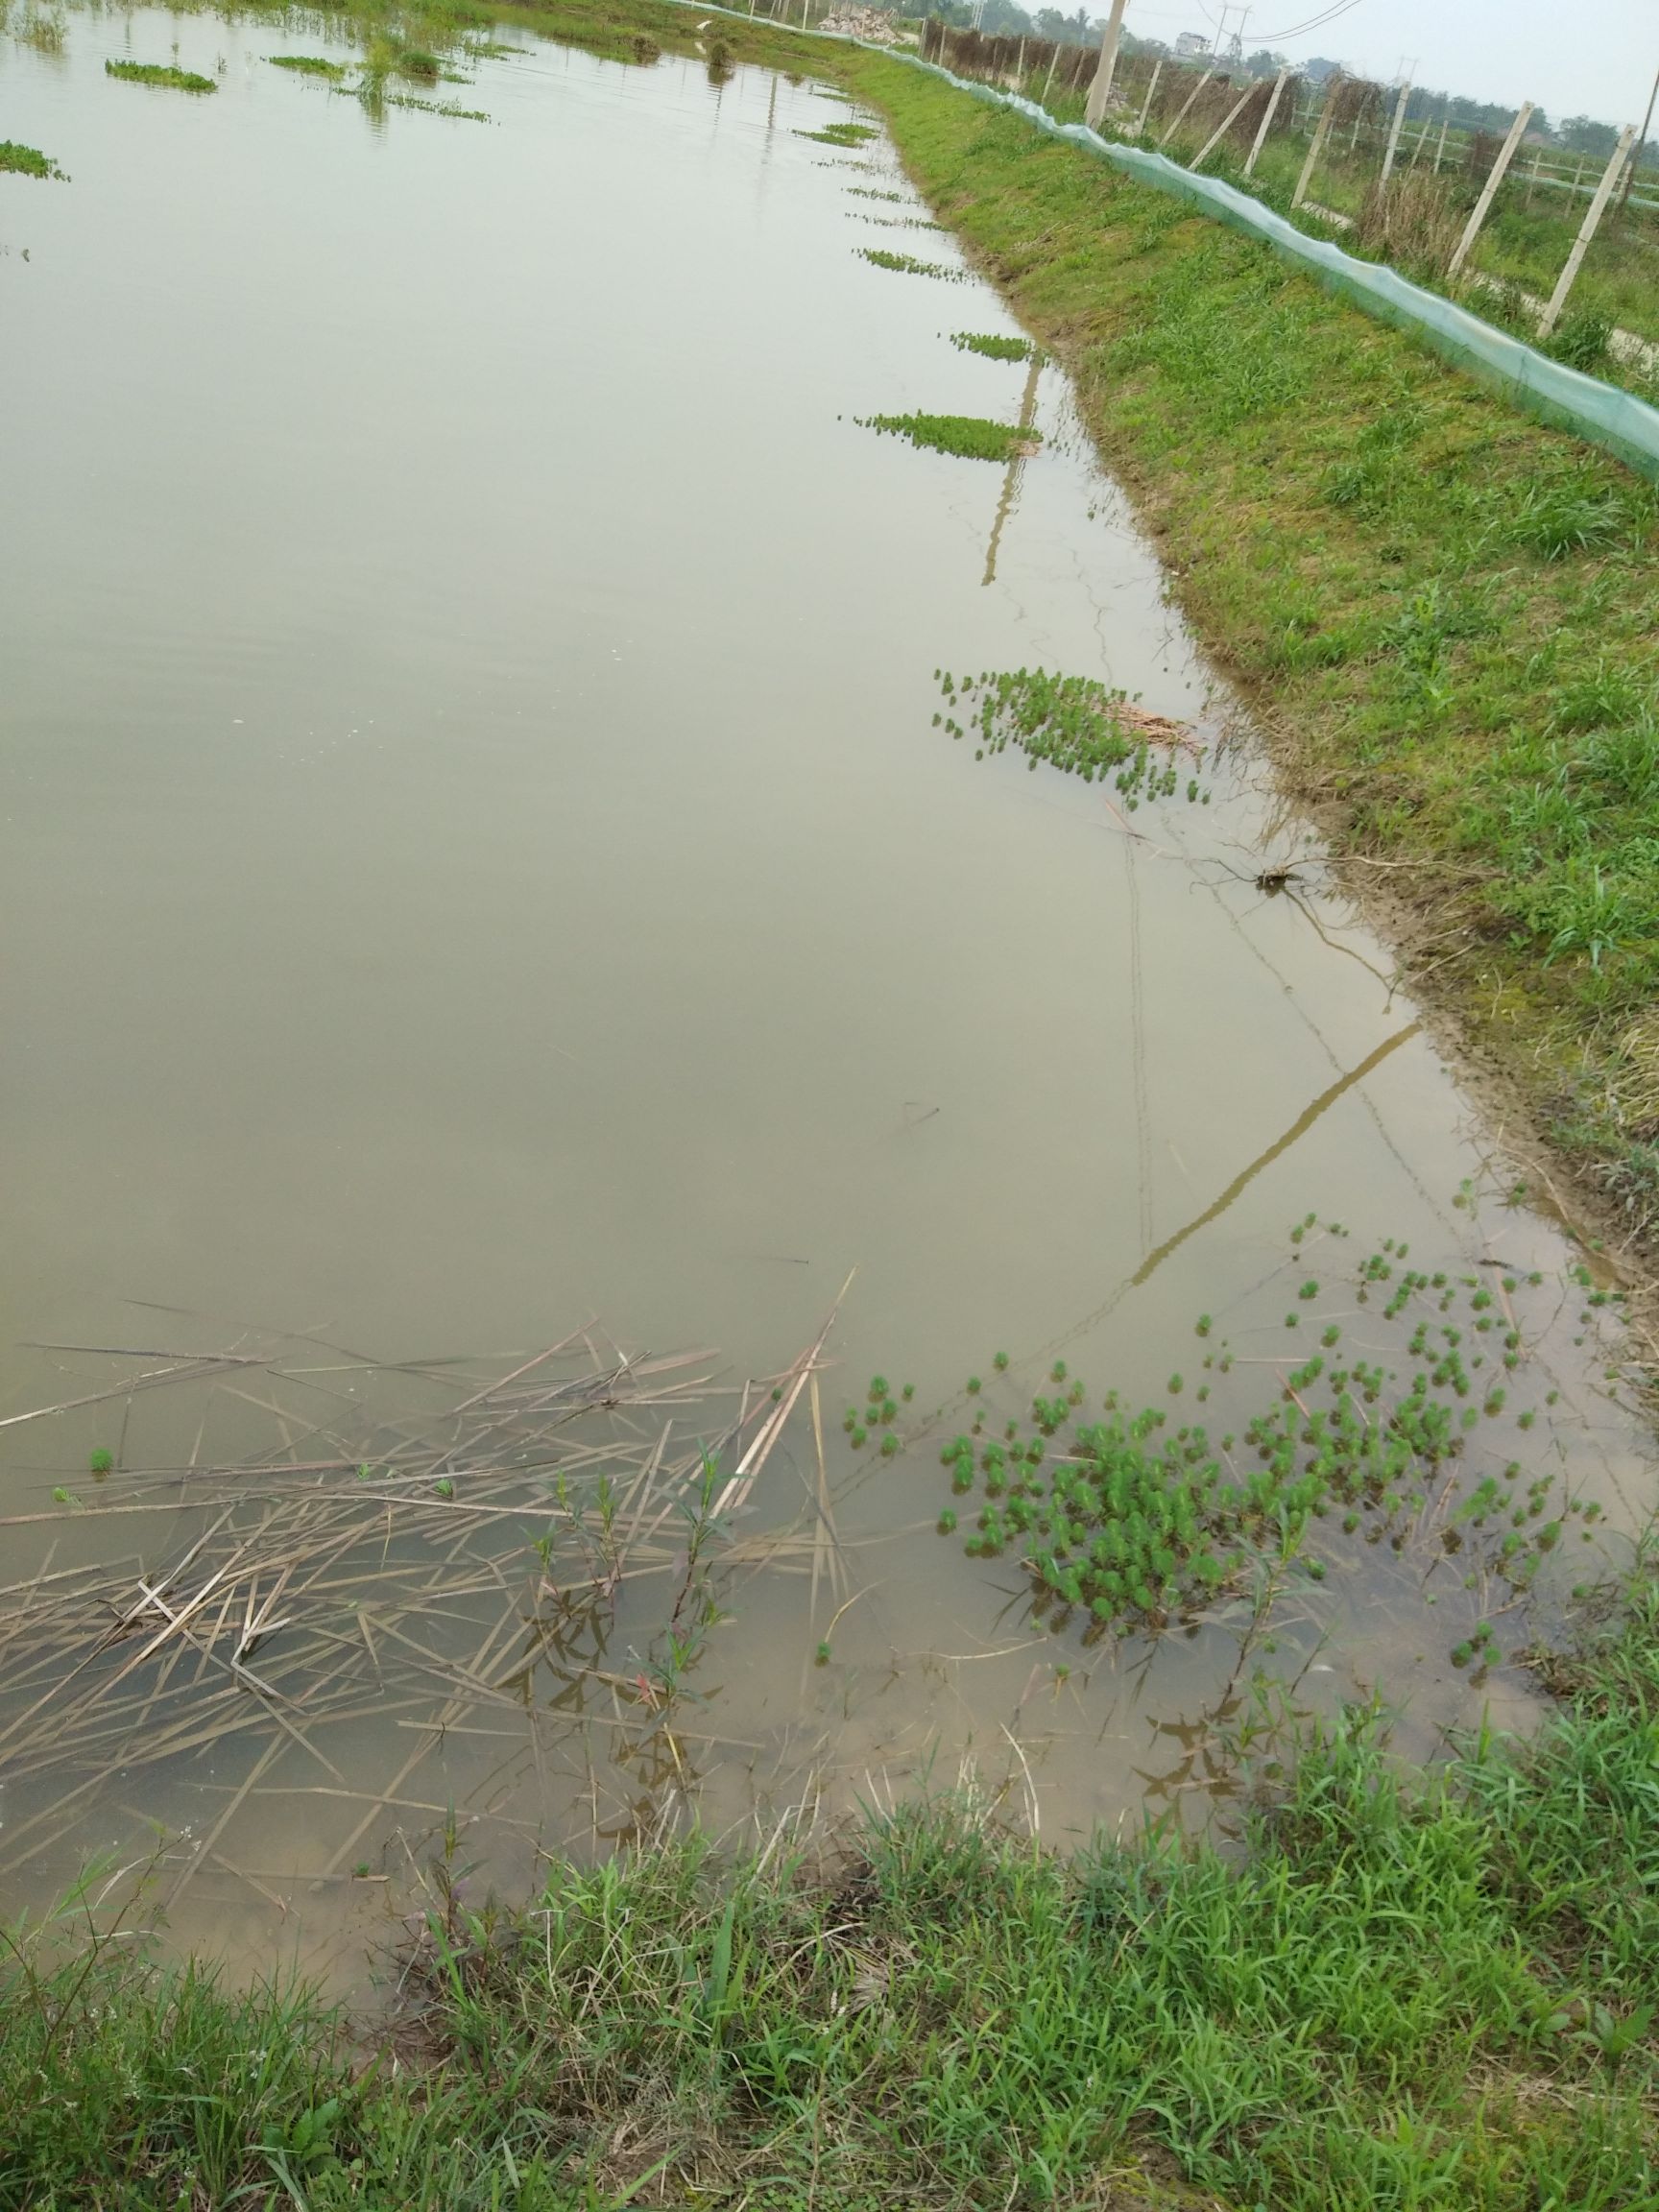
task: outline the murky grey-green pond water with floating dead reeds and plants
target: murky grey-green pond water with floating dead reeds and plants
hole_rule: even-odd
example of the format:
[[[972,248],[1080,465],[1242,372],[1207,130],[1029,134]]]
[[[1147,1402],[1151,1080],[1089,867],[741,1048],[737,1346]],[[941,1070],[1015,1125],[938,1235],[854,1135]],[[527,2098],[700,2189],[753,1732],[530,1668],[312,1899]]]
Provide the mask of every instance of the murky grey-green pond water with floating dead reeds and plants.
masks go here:
[[[973,1369],[993,1427],[1055,1358],[1091,1402],[1170,1402],[1186,1369],[1188,1413],[1214,1385],[1203,1411],[1241,1427],[1279,1396],[1307,1265],[1292,1349],[1336,1312],[1394,1356],[1352,1292],[1380,1239],[1520,1283],[1511,1394],[1535,1422],[1471,1444],[1471,1471],[1524,1447],[1528,1482],[1613,1528],[1650,1478],[1579,1254],[1506,1203],[1385,951],[1248,737],[1221,743],[1225,690],[1064,376],[949,343],[1013,325],[914,228],[885,142],[812,137],[852,113],[812,82],[507,38],[458,64],[465,91],[422,93],[489,122],[279,71],[352,55],[274,24],[73,13],[62,55],[4,51],[0,137],[73,181],[0,177],[0,1635],[51,1655],[69,1584],[46,1577],[128,1555],[133,1619],[164,1621],[208,1464],[321,1451],[407,1482],[438,1436],[431,1548],[476,1455],[449,1409],[500,1411],[489,1449],[522,1458],[515,1425],[551,1400],[491,1383],[582,1329],[538,1389],[613,1371],[613,1343],[719,1347],[624,1376],[608,1396],[646,1402],[582,1431],[644,1500],[670,1462],[690,1495],[692,1447],[743,1413],[708,1391],[754,1376],[730,1455],[750,1449],[834,1312],[823,1453],[812,1394],[781,1383],[790,1418],[697,1584],[726,1619],[690,1635],[686,1610],[677,1659],[681,1506],[666,1533],[630,1506],[657,1579],[611,1582],[597,1641],[538,1644],[507,1699],[518,1584],[507,1644],[456,1597],[471,1659],[447,1663],[513,1705],[500,1725],[451,1674],[431,1710],[365,1690],[327,1750],[307,1699],[332,1692],[272,1721],[241,1679],[232,1719],[166,1756],[133,1699],[53,1763],[46,1657],[0,1712],[4,1909],[91,1849],[155,1851],[181,1940],[343,1955],[434,1832],[511,1880],[531,1845],[692,1805],[741,1829],[918,1774],[975,1774],[1051,1836],[1148,1801],[1199,1818],[1256,1670],[1298,1705],[1380,1688],[1420,1745],[1522,1721],[1517,1668],[1449,1655],[1478,1617],[1513,1650],[1531,1615],[1484,1568],[1464,1588],[1433,1509],[1400,1551],[1332,1524],[1325,1582],[1292,1575],[1267,1610],[1243,1593],[1121,1644],[1033,1628],[1013,1555],[936,1533]],[[115,82],[122,55],[219,88]],[[856,420],[1022,405],[1042,445],[1009,469]],[[1004,668],[1194,726],[1210,801],[1128,812],[1015,750],[975,761],[933,723],[936,670]],[[1292,860],[1298,896],[1256,885]],[[1307,1214],[1352,1239],[1294,1250]],[[1225,1378],[1201,1367],[1223,1338]],[[876,1369],[916,1389],[891,1458],[841,1427]],[[768,1553],[765,1531],[790,1535]],[[1582,1575],[1601,1544],[1568,1535]],[[243,1628],[279,1575],[237,1588]],[[259,1641],[281,1657],[276,1628]],[[219,1666],[177,1657],[126,1692]]]

